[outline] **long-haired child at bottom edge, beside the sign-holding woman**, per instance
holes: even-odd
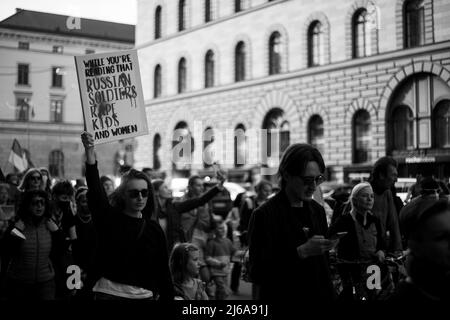
[[[175,300],[208,300],[205,284],[198,279],[199,253],[191,243],[179,243],[173,248],[169,264]]]

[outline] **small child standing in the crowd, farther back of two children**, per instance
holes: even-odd
[[[216,222],[215,237],[206,245],[205,261],[209,265],[211,278],[216,285],[216,300],[225,300],[229,295],[227,278],[230,274],[230,262],[237,251],[226,235],[225,223]]]

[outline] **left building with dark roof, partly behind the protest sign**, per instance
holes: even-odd
[[[83,117],[74,56],[131,49],[133,25],[17,9],[0,22],[0,164],[17,139],[37,167],[59,178],[83,175]],[[132,141],[100,145],[103,174],[113,175]],[[132,160],[128,157],[128,160]],[[132,163],[130,163],[132,164]]]

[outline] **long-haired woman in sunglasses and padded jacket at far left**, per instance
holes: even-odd
[[[7,298],[55,299],[55,272],[51,259],[61,252],[64,236],[51,219],[45,191],[32,190],[23,194],[17,221],[4,240]]]

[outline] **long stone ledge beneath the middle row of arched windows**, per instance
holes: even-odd
[[[292,80],[292,79],[302,78],[302,77],[306,77],[306,76],[314,76],[314,75],[323,74],[323,73],[327,73],[327,72],[345,70],[348,68],[364,67],[367,65],[388,62],[388,61],[392,61],[392,60],[396,60],[396,59],[404,59],[404,58],[408,58],[408,57],[411,57],[411,62],[412,62],[412,59],[418,55],[436,54],[439,52],[448,51],[449,49],[450,49],[450,41],[445,41],[445,42],[435,43],[432,45],[426,45],[426,46],[417,47],[417,48],[396,50],[396,51],[391,51],[391,52],[387,52],[387,53],[381,53],[381,54],[370,56],[370,57],[345,60],[345,61],[335,62],[335,63],[331,63],[331,64],[327,64],[327,65],[305,68],[305,69],[301,69],[301,70],[295,70],[295,71],[286,72],[286,73],[278,74],[278,75],[264,76],[263,78],[240,81],[240,82],[230,83],[230,84],[226,84],[226,85],[222,85],[222,86],[201,89],[201,90],[192,91],[192,92],[186,92],[183,94],[175,94],[175,95],[169,96],[169,97],[149,99],[149,100],[145,101],[145,104],[147,107],[158,106],[161,104],[166,104],[166,103],[170,103],[170,102],[174,102],[174,101],[180,101],[180,100],[184,100],[184,99],[197,98],[197,97],[207,96],[210,94],[223,93],[223,92],[232,91],[232,90],[247,89],[250,87],[266,85],[269,83],[276,83],[276,82],[281,82],[281,81],[286,81],[286,80]]]

